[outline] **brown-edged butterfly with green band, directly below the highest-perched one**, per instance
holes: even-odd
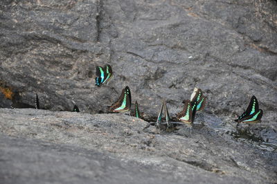
[[[119,99],[109,107],[109,109],[113,112],[125,112],[131,109],[131,91],[128,86],[122,90]]]

